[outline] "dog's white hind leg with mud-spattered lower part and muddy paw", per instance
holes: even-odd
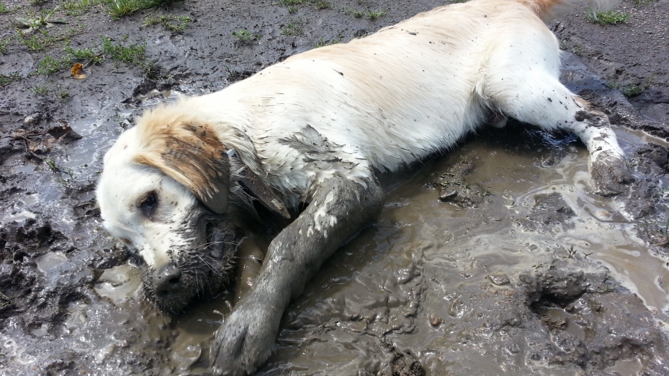
[[[503,113],[546,131],[572,132],[590,152],[592,185],[601,196],[615,196],[633,180],[605,114],[571,93],[548,74],[532,72],[502,77],[486,84],[486,92]],[[503,95],[502,95],[503,93]]]

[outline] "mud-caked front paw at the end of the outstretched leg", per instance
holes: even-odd
[[[215,376],[253,373],[272,354],[281,314],[267,307],[238,306],[216,331],[210,353]]]

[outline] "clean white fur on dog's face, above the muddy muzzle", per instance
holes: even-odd
[[[183,185],[156,169],[131,162],[138,148],[133,133],[125,132],[105,155],[98,205],[107,231],[137,249],[149,267],[160,269],[180,250],[199,245],[187,220],[201,209],[197,198]],[[151,191],[156,191],[160,204],[157,221],[142,216],[137,207]]]

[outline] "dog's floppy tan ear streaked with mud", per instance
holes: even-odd
[[[212,212],[228,210],[228,155],[208,125],[154,125],[141,136],[141,151],[134,162],[155,167],[180,182]]]

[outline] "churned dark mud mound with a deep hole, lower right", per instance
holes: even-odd
[[[636,295],[624,293],[606,274],[551,267],[521,274],[525,304],[551,333],[551,342],[530,352],[549,364],[573,363],[602,370],[621,359],[638,359],[645,375],[665,375],[659,354],[667,343]]]

